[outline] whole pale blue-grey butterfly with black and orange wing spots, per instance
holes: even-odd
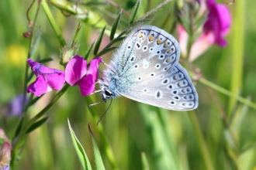
[[[195,109],[199,97],[179,56],[178,42],[168,32],[137,26],[103,70],[102,100],[124,96],[168,110]]]

